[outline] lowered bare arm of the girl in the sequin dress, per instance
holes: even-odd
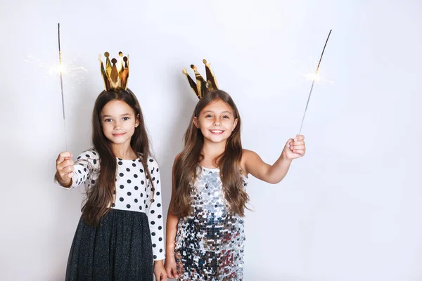
[[[177,162],[179,155],[174,159],[174,164]],[[173,214],[172,204],[174,200],[174,164],[172,169],[172,197],[170,199],[169,210],[167,212],[167,225],[166,225],[166,251],[167,257],[165,259],[165,268],[169,278],[177,278],[176,260],[174,259],[174,244],[177,235],[177,223],[179,223],[179,217]]]

